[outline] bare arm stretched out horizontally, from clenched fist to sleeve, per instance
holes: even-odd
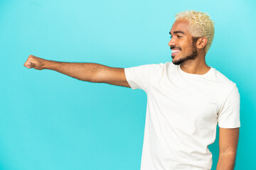
[[[51,69],[82,81],[130,87],[123,68],[107,67],[96,63],[55,62],[29,55],[24,63],[28,69]]]

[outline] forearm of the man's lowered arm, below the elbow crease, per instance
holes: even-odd
[[[216,170],[233,170],[235,168],[235,152],[220,154]]]

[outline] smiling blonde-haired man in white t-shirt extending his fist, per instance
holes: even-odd
[[[211,169],[208,145],[215,141],[217,123],[217,169],[234,169],[240,94],[235,83],[206,64],[206,53],[214,36],[213,24],[206,13],[177,13],[169,42],[173,60],[165,64],[123,69],[55,62],[30,55],[24,66],[146,91],[142,170]]]

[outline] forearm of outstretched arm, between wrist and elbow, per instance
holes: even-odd
[[[75,79],[91,82],[94,81],[97,71],[102,67],[106,66],[96,63],[55,62],[51,60],[43,61],[43,69],[51,69]]]

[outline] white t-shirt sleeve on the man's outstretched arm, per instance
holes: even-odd
[[[147,91],[151,86],[151,80],[156,72],[159,72],[159,64],[145,64],[137,67],[124,68],[127,82],[134,89]]]

